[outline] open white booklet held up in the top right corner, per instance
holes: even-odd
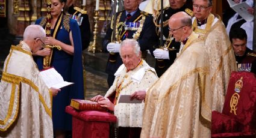
[[[228,0],[228,4],[234,11],[236,11],[237,14],[245,19],[246,22],[251,22],[254,19],[254,15],[247,11],[249,5],[246,4],[246,2],[236,4],[236,2],[234,2],[233,0]]]

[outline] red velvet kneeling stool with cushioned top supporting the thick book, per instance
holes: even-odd
[[[117,121],[116,116],[108,112],[78,111],[71,106],[67,106],[65,111],[72,115],[73,138],[107,138],[110,135],[110,122]]]

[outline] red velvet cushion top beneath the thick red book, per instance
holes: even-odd
[[[116,122],[116,116],[108,112],[100,112],[94,110],[77,111],[71,106],[66,106],[67,113],[73,117],[82,119],[84,121],[98,121],[98,122]]]

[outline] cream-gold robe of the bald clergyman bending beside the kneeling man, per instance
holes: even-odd
[[[210,137],[208,55],[194,32],[180,55],[146,93],[140,137]]]

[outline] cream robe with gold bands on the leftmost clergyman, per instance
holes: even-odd
[[[53,137],[51,101],[30,47],[11,46],[0,84],[0,137]]]

